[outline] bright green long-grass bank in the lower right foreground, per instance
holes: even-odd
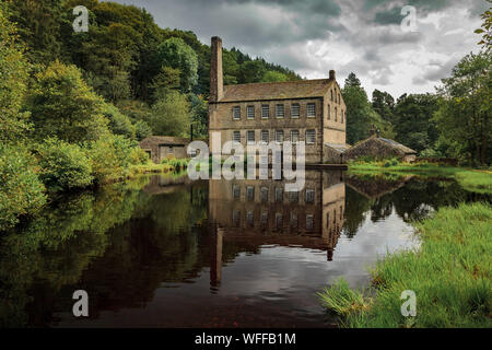
[[[319,293],[345,327],[492,327],[492,208],[442,208],[415,224],[422,244],[379,261],[372,287],[339,281]],[[417,316],[403,317],[401,292],[417,295]]]

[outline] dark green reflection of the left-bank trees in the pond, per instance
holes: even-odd
[[[3,236],[0,325],[43,324],[49,318],[55,295],[63,285],[77,283],[94,257],[104,254],[109,243],[105,232],[131,218],[143,185],[130,182],[69,196]]]

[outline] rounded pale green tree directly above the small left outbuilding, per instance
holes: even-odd
[[[154,135],[183,137],[189,132],[189,109],[186,95],[172,91],[152,106],[148,122]]]

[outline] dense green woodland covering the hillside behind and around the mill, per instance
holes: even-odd
[[[75,33],[73,8],[89,9]],[[348,142],[383,136],[422,155],[491,163],[490,11],[480,54],[465,57],[434,94],[397,100],[354,73],[342,94]],[[470,35],[473,35],[470,33]],[[478,36],[477,36],[478,37]],[[224,49],[224,83],[291,81],[295,72]],[[159,27],[144,9],[98,0],[0,3],[0,231],[35,213],[51,194],[130,175],[148,161],[150,135],[207,136],[210,46]],[[443,77],[444,78],[444,77]]]

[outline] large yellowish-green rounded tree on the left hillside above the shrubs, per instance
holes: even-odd
[[[107,132],[104,101],[83,81],[75,66],[59,61],[36,74],[28,96],[34,135],[67,142],[97,140]]]

